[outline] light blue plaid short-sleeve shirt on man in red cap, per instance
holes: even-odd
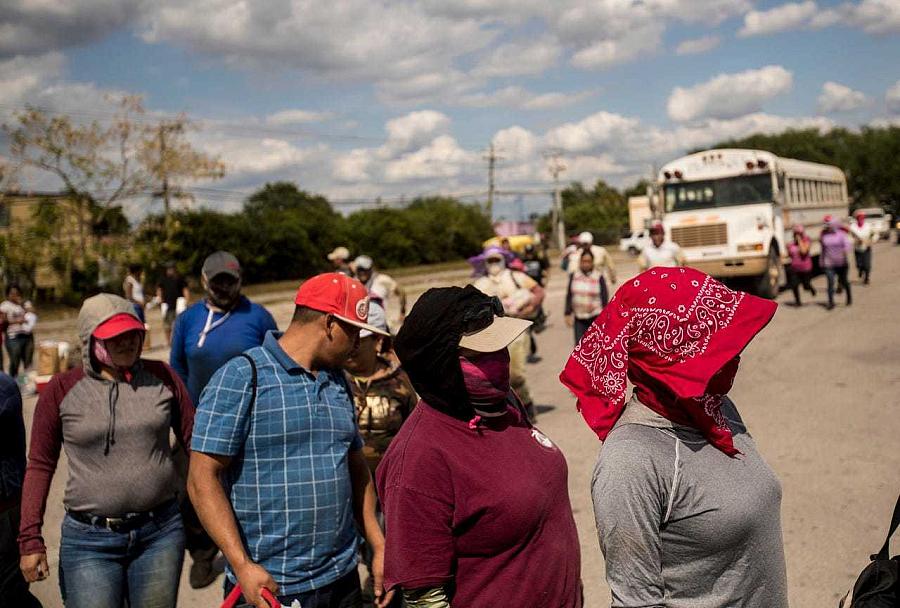
[[[340,370],[313,375],[269,332],[203,390],[191,449],[234,457],[226,488],[250,558],[279,593],[319,589],[356,567],[358,535],[348,455],[362,449],[350,389]],[[227,575],[235,581],[230,567]]]

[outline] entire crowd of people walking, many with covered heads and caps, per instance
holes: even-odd
[[[563,256],[575,347],[560,381],[603,441],[591,497],[613,606],[786,608],[780,482],[728,397],[776,304],[686,267],[661,225],[650,234],[614,295],[613,258],[589,232]],[[828,222],[829,308],[838,286],[852,302],[851,250],[869,282],[875,240],[862,219]],[[794,227],[797,305],[801,287],[815,295],[810,252]],[[36,317],[7,289],[0,605],[40,606],[29,584],[50,574],[44,516],[63,452],[67,608],[173,607],[186,551],[192,587],[215,582],[221,554],[223,597],[259,608],[584,605],[566,459],[527,382],[546,255],[488,247],[469,285],[408,311],[371,257],[338,247],[328,260],[284,331],[228,252],[206,258],[193,303],[174,265],[152,300],[129,267],[124,297],[82,304],[81,366],[42,390],[27,461],[14,378]],[[154,303],[168,363],[142,356]]]

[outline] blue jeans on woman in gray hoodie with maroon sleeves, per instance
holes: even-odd
[[[128,532],[63,520],[59,587],[66,608],[174,608],[183,562],[177,503]]]

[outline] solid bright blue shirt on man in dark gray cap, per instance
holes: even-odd
[[[207,322],[209,329],[201,338]],[[202,300],[175,320],[169,365],[181,376],[191,401],[197,403],[216,370],[245,350],[262,344],[266,332],[276,329],[269,311],[244,296],[228,313],[213,312]]]

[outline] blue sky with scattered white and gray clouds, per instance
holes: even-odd
[[[491,142],[498,188],[543,192],[551,150],[624,186],[722,138],[900,120],[897,0],[12,0],[0,23],[5,118],[124,92],[187,112],[222,209],[275,179],[344,209],[475,200]]]

